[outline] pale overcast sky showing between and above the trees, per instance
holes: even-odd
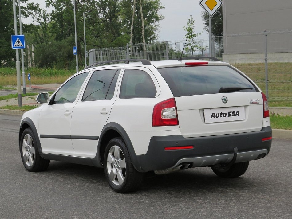
[[[201,12],[203,8],[199,5],[200,0],[160,0],[161,4],[165,6],[160,14],[164,19],[159,22],[160,33],[158,33],[159,41],[166,40],[183,40],[186,32],[183,27],[187,25],[187,20],[190,15],[195,20],[195,32],[203,31],[203,22]],[[30,2],[40,4],[41,8],[45,8],[45,0],[30,0]],[[50,12],[52,9],[47,9]],[[32,23],[31,18],[22,19],[24,23]],[[208,38],[209,35],[205,31],[200,38]]]

